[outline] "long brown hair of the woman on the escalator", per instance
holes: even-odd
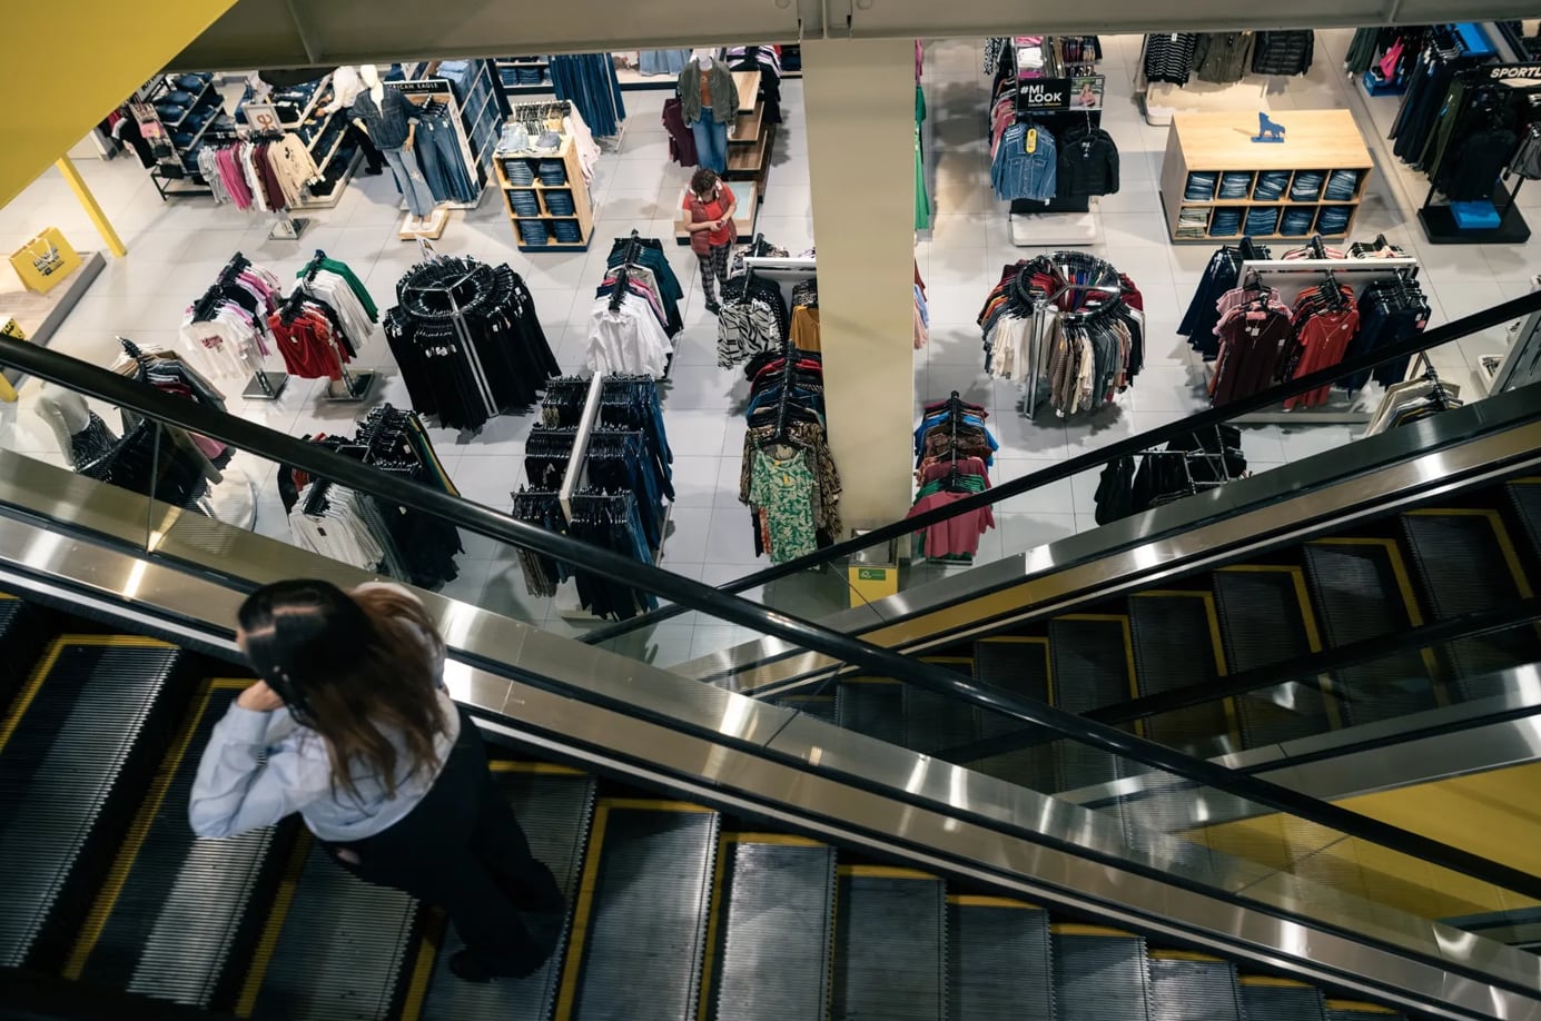
[[[358,798],[353,775],[362,767],[394,796],[404,779],[438,765],[444,639],[415,599],[297,579],[264,585],[237,616],[257,675],[325,741],[334,787]],[[402,735],[405,770],[387,733]]]

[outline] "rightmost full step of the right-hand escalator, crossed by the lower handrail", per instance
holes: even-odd
[[[1418,565],[1418,593],[1436,621],[1498,610],[1533,594],[1498,511],[1416,510],[1402,514],[1402,530]],[[1464,678],[1529,664],[1541,654],[1535,628],[1459,639],[1444,648],[1456,687]]]

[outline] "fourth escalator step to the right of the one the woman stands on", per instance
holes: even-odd
[[[997,896],[948,898],[948,1016],[1053,1021],[1048,912]]]

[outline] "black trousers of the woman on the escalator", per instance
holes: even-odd
[[[418,807],[374,836],[327,850],[361,879],[442,907],[492,972],[524,972],[547,956],[519,910],[559,907],[561,890],[492,782],[481,730],[464,710],[459,739]]]

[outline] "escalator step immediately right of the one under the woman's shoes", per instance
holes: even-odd
[[[697,1015],[718,825],[715,812],[681,802],[599,802],[558,1018]]]

